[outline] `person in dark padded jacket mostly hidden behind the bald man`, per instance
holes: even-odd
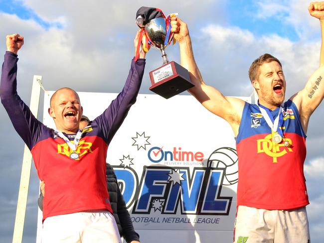
[[[82,115],[79,128],[83,130],[88,123],[90,122],[89,118]],[[134,230],[134,226],[131,220],[131,216],[127,210],[124,197],[118,186],[117,177],[113,167],[107,163],[106,167],[107,175],[107,189],[109,193],[109,200],[112,210],[114,212],[114,218],[118,227],[118,231],[121,237],[123,237],[127,243],[139,243],[140,236]],[[43,198],[45,195],[45,184],[42,181],[40,183],[41,193],[38,198],[38,206],[40,210],[43,210]]]

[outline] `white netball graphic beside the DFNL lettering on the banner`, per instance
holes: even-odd
[[[225,169],[223,185],[233,185],[238,181],[237,153],[234,148],[221,147],[212,152],[207,167]]]

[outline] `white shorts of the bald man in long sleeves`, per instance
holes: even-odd
[[[48,217],[43,223],[42,243],[121,243],[113,215],[94,210]]]

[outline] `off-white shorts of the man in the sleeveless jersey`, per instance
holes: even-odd
[[[306,207],[265,210],[238,206],[234,243],[310,243]]]

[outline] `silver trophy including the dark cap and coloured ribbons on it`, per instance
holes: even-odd
[[[141,34],[146,35],[148,43],[160,49],[163,58],[163,65],[150,72],[152,86],[150,90],[168,99],[172,96],[192,88],[188,70],[174,61],[169,62],[165,53],[165,48],[171,43],[173,33],[171,33],[170,18],[175,14],[164,16],[159,8],[140,7],[136,13],[136,23],[141,27]],[[141,37],[140,37],[141,39]],[[135,57],[137,60],[137,57]]]

